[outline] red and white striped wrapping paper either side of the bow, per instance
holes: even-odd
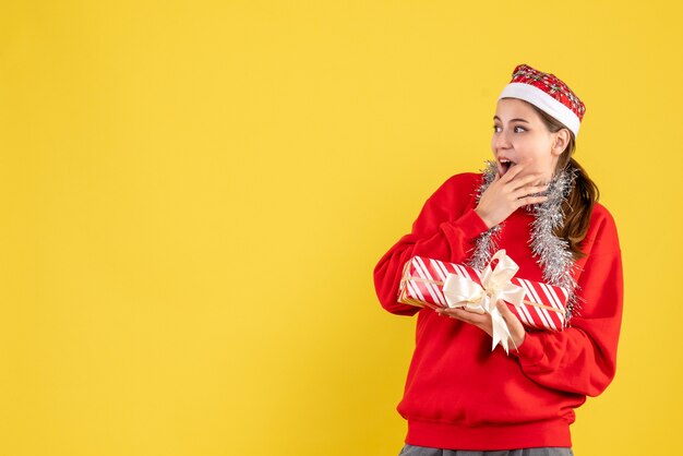
[[[404,266],[398,302],[431,309],[447,308],[442,288],[448,274],[469,278],[481,285],[481,273],[469,266],[414,256]],[[564,288],[517,277],[513,277],[511,283],[526,291],[524,304],[519,308],[507,303],[524,326],[555,332],[564,328],[568,298]]]

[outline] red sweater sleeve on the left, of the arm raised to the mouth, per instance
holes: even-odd
[[[374,267],[378,298],[384,309],[414,315],[420,308],[397,301],[403,267],[414,255],[463,262],[476,238],[488,229],[474,208],[476,175],[456,175],[424,203],[410,233],[396,242]]]

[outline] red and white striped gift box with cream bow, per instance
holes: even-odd
[[[498,313],[495,302],[503,299],[524,326],[562,331],[567,291],[514,277],[517,271],[517,265],[504,250],[498,251],[482,272],[463,264],[414,256],[404,267],[398,301],[431,309],[465,308],[492,313],[492,317],[500,320],[502,317],[494,314]],[[496,322],[493,323],[495,326]],[[507,326],[501,331],[507,332]]]

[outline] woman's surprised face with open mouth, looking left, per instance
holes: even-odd
[[[498,100],[491,151],[501,175],[513,166],[523,165],[524,169],[518,177],[539,173],[537,183],[549,182],[566,146],[566,143],[562,145],[565,136],[566,130],[550,132],[528,103],[517,98]]]

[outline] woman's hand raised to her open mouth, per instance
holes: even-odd
[[[515,165],[502,177],[499,171],[493,182],[481,195],[475,211],[489,228],[499,225],[522,206],[548,200],[548,196],[531,196],[548,188],[548,184],[534,184],[541,178],[541,175],[517,178],[523,169],[524,165]]]

